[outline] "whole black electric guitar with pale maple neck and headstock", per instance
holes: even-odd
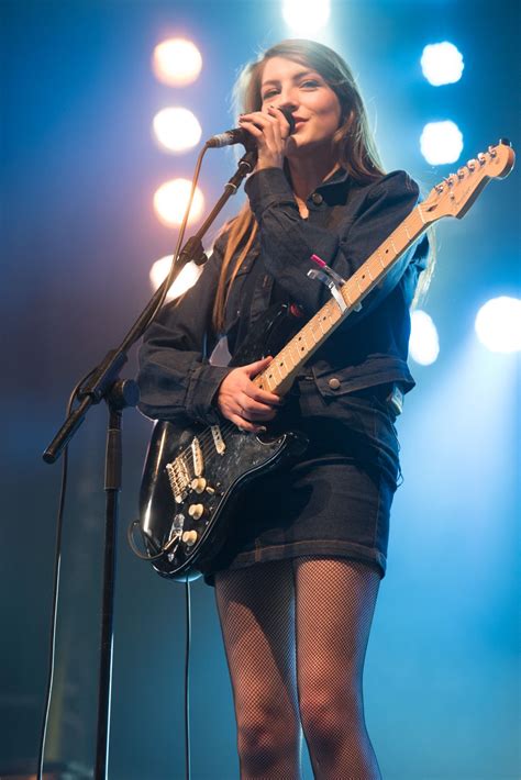
[[[513,163],[512,148],[500,142],[436,185],[347,281],[331,283],[333,297],[297,333],[293,325],[295,335],[253,381],[282,397],[310,356],[359,308],[429,225],[443,216],[461,219],[488,181],[508,176]],[[273,339],[279,339],[288,325],[291,316],[282,309],[268,319],[265,333],[234,356],[233,364],[273,355]],[[231,533],[233,502],[241,488],[301,454],[306,444],[298,433],[275,438],[244,433],[224,419],[218,425],[193,423],[182,430],[157,422],[146,456],[137,521],[156,571],[179,581],[198,577],[204,560],[221,549]]]

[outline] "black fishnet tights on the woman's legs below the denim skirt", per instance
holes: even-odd
[[[378,586],[341,558],[217,575],[242,780],[298,780],[302,729],[317,780],[380,778],[362,695]]]

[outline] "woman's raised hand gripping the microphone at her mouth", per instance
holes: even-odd
[[[279,109],[268,105],[265,111],[254,111],[239,118],[241,127],[247,130],[257,143],[256,170],[281,168],[289,138],[289,122]]]

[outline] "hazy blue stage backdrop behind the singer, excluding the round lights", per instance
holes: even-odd
[[[462,160],[501,135],[519,140],[517,3],[333,2],[330,38],[368,102],[388,169],[429,190],[418,138],[453,119]],[[47,662],[58,466],[41,453],[70,388],[123,336],[151,293],[153,260],[176,233],[157,222],[155,189],[191,177],[196,153],[168,156],[154,113],[185,105],[203,135],[231,126],[237,68],[288,35],[277,2],[1,0],[1,220],[3,349],[2,650],[0,773],[33,761]],[[167,35],[199,45],[192,87],[151,70]],[[465,71],[434,89],[419,58],[447,38]],[[233,169],[214,153],[207,203]],[[366,707],[384,776],[393,780],[513,780],[519,639],[519,365],[476,344],[478,307],[519,296],[519,177],[492,181],[463,223],[439,230],[425,309],[440,360],[419,380],[400,421],[406,476],[395,509],[389,573],[366,672]],[[236,199],[239,200],[239,198]],[[237,202],[229,212],[237,208]],[[126,375],[134,368],[134,356]],[[57,668],[48,759],[92,767],[104,499],[103,408],[71,446]],[[125,526],[136,513],[149,424],[125,414],[124,491],[115,605],[110,777],[182,777],[184,592],[135,559]],[[233,711],[212,591],[193,591],[193,778],[236,777]],[[309,771],[309,770],[308,770]],[[310,775],[308,775],[310,777]],[[308,777],[307,776],[307,777]]]

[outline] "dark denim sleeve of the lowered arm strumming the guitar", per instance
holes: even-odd
[[[212,400],[231,369],[211,366],[207,355],[215,344],[211,321],[221,263],[218,242],[196,285],[165,305],[145,333],[138,352],[138,408],[153,420],[219,421]]]

